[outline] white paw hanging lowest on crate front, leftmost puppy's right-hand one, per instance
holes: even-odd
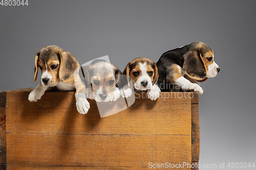
[[[90,104],[83,93],[76,93],[76,109],[81,114],[86,114],[90,109]]]

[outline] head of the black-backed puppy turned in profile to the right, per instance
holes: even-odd
[[[193,42],[184,54],[183,70],[188,77],[203,82],[217,76],[219,66],[214,62],[214,52],[203,42]]]

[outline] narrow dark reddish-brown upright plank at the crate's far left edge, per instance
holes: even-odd
[[[0,168],[6,168],[6,92],[0,92]]]

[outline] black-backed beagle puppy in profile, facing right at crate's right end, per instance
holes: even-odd
[[[197,82],[215,77],[220,71],[214,62],[214,52],[203,42],[193,42],[165,52],[156,65],[158,86],[162,91],[170,91],[174,85],[202,94],[203,89]]]

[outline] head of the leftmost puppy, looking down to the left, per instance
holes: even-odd
[[[71,53],[55,45],[46,46],[36,53],[34,82],[40,68],[43,86],[54,87],[59,81],[70,83],[74,81],[74,71],[77,67],[79,63]]]

